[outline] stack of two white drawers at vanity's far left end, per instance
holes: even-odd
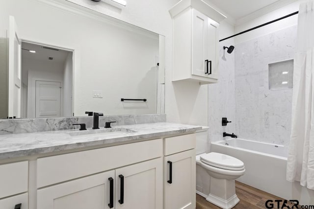
[[[28,209],[27,190],[27,161],[0,165],[0,209]]]

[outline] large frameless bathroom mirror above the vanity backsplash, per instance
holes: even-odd
[[[9,16],[21,40],[18,93],[8,83]],[[0,118],[86,111],[164,113],[164,36],[68,1],[0,1]]]

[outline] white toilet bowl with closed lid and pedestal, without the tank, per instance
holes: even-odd
[[[210,188],[206,200],[223,209],[233,208],[240,201],[235,194],[235,179],[244,174],[244,163],[216,152],[197,155],[196,163],[209,174]]]

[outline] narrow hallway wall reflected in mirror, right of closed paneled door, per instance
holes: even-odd
[[[63,116],[73,114],[73,53],[69,52],[63,70]]]

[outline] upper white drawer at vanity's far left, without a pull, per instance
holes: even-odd
[[[26,192],[27,186],[28,161],[0,165],[0,187],[5,188],[0,189],[0,198]]]

